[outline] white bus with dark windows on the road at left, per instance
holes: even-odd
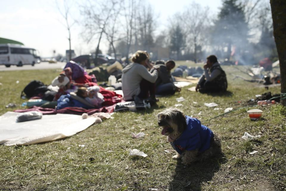
[[[23,66],[40,63],[38,51],[18,44],[0,44],[0,65],[10,67],[11,65]]]

